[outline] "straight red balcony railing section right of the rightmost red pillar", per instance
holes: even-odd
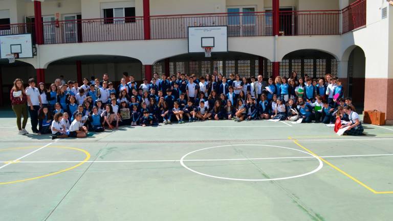
[[[339,30],[340,11],[281,11],[282,35],[336,35]]]

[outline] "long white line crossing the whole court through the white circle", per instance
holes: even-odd
[[[42,147],[41,147],[42,148]],[[41,149],[40,148],[40,149]],[[393,154],[363,154],[363,155],[340,155],[322,156],[321,158],[345,158],[345,157],[383,157],[393,156]],[[239,159],[209,159],[209,160],[183,160],[183,161],[242,161],[242,160],[276,160],[276,159],[305,159],[315,157],[276,157],[276,158],[239,158]],[[8,161],[0,162],[6,163]],[[129,161],[21,161],[18,163],[154,163],[154,162],[180,162],[180,160],[129,160]]]

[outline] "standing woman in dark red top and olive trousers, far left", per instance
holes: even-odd
[[[27,96],[25,93],[25,87],[23,86],[23,81],[19,78],[14,80],[14,86],[10,92],[10,99],[12,110],[16,115],[16,125],[18,126],[19,135],[29,134],[25,129],[28,114],[27,114]],[[23,116],[23,123],[20,123],[21,118]]]

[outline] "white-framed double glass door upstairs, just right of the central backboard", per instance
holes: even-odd
[[[229,36],[253,36],[255,34],[255,6],[228,7]]]

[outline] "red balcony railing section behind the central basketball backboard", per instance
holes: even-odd
[[[270,12],[150,16],[151,39],[187,38],[191,26],[228,26],[229,37],[272,35]]]

